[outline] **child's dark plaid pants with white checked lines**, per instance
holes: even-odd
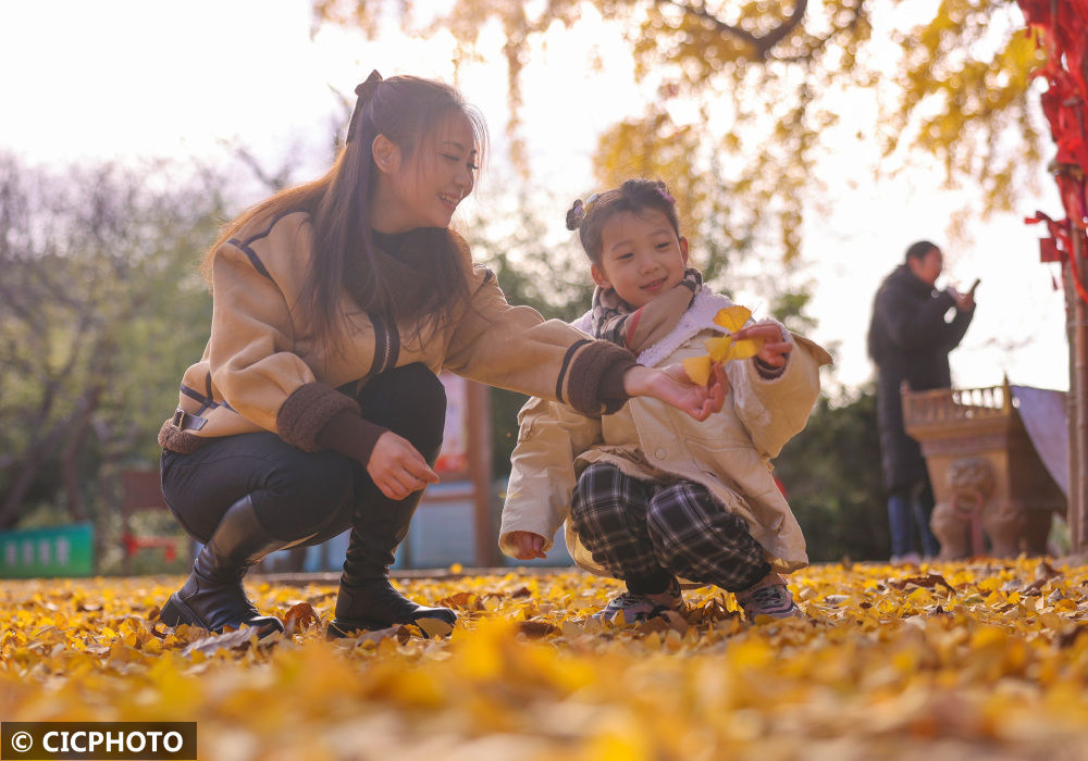
[[[770,573],[744,520],[694,482],[655,484],[594,463],[579,476],[570,523],[593,560],[632,591],[658,591],[634,587],[673,575],[739,591]]]

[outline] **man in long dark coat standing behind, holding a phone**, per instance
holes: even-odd
[[[877,425],[888,491],[891,561],[917,563],[940,547],[929,528],[934,490],[918,442],[903,429],[900,387],[912,391],[951,388],[949,352],[960,345],[975,314],[975,286],[966,294],[936,290],[944,265],[941,250],[928,240],[912,244],[902,264],[877,290],[869,323],[869,357],[877,365]],[[945,319],[955,308],[951,322]]]

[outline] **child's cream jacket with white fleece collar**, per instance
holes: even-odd
[[[706,353],[705,339],[720,335],[713,320],[730,305],[702,289],[677,327],[639,355],[656,366]],[[573,323],[588,327],[583,317]],[[796,519],[771,476],[771,458],[805,427],[819,395],[819,367],[831,358],[816,344],[789,334],[795,348],[786,371],[764,378],[754,360],[729,362],[730,390],[721,412],[700,423],[654,399],[632,399],[615,414],[592,417],[569,407],[532,399],[518,415],[521,429],[503,510],[499,547],[512,554],[510,532],[552,537],[569,515],[577,475],[606,462],[642,479],[683,479],[706,486],[728,510],[742,516],[768,562],[790,572],[808,562]],[[574,561],[607,575],[567,522],[567,548]]]

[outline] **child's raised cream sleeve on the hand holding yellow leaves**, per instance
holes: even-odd
[[[737,415],[767,458],[778,457],[786,442],[804,431],[819,398],[819,369],[831,364],[823,347],[784,327],[782,332],[794,346],[781,375],[763,377],[754,360],[726,365]]]

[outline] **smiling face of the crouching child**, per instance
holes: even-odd
[[[613,214],[601,228],[601,263],[593,282],[614,288],[632,309],[680,285],[688,266],[688,239],[678,238],[664,212]]]

